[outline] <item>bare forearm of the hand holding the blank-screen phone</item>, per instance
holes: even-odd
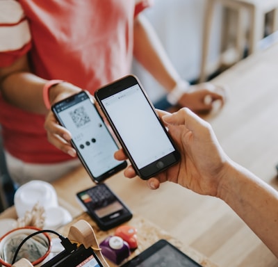
[[[278,193],[268,184],[231,163],[224,176],[219,197],[261,238],[278,257]]]

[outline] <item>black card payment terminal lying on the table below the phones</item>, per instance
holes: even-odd
[[[76,194],[81,206],[106,231],[132,218],[128,207],[106,184],[98,184]]]

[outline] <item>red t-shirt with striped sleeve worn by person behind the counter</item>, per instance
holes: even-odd
[[[129,74],[133,19],[147,5],[135,0],[1,0],[0,67],[28,51],[38,76],[69,81],[93,93]],[[70,159],[48,142],[44,115],[10,106],[1,95],[0,124],[6,150],[18,159]]]

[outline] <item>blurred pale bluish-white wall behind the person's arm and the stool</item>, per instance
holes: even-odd
[[[145,10],[174,67],[187,81],[196,81],[199,77],[205,6],[206,0],[156,0],[154,6]],[[220,50],[220,15],[219,8],[213,18],[209,52],[212,61]],[[153,102],[165,95],[165,90],[136,61],[133,73]]]

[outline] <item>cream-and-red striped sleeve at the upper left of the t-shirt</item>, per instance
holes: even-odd
[[[12,64],[31,48],[31,33],[22,6],[0,0],[0,67]]]

